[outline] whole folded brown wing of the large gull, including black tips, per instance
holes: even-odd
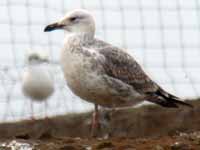
[[[164,107],[178,107],[177,104],[192,107],[152,81],[134,58],[125,51],[111,45],[98,51],[105,58],[102,62],[105,73],[131,85],[138,93],[145,95],[146,100]]]

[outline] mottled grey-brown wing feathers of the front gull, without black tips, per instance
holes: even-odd
[[[104,47],[99,53],[105,57],[102,62],[107,75],[117,78],[141,94],[155,92],[159,87],[128,53],[117,47]]]

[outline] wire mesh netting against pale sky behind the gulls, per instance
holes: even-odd
[[[52,23],[74,8],[85,8],[96,18],[96,36],[127,48],[163,88],[189,98],[200,94],[200,2],[198,0],[1,0],[0,1],[0,120],[1,122],[84,111],[66,86],[59,65],[64,34],[44,34]],[[55,93],[35,103],[21,91],[25,51],[50,53]],[[30,111],[34,105],[34,113]],[[47,114],[45,113],[47,111]]]

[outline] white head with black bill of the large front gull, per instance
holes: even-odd
[[[95,21],[90,12],[76,9],[68,12],[61,20],[45,27],[45,32],[63,29],[68,33],[92,34],[95,33]]]

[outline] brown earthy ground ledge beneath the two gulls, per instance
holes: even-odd
[[[91,112],[4,123],[0,150],[16,142],[35,150],[200,150],[200,101],[190,103],[193,109],[150,105],[116,111],[97,138],[90,137]]]

